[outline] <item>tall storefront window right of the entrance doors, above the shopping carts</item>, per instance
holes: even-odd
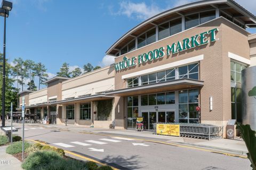
[[[179,122],[198,123],[198,89],[179,91]]]

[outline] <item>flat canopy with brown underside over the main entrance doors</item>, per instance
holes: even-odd
[[[174,91],[174,90],[198,88],[203,86],[204,86],[204,82],[201,80],[177,79],[177,80],[172,80],[167,82],[148,84],[145,86],[114,90],[114,91],[106,92],[106,95],[121,96],[121,97],[134,96],[134,95],[143,95],[143,94],[157,93],[157,92],[163,92],[163,91]]]

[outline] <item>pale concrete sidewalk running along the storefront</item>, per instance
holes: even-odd
[[[14,126],[21,126],[21,124],[14,123]],[[26,124],[31,127],[43,127],[55,130],[74,131],[80,133],[94,133],[103,135],[115,135],[122,137],[137,138],[143,140],[150,140],[152,142],[167,142],[175,145],[193,146],[202,149],[210,149],[227,154],[235,154],[246,156],[247,148],[244,141],[230,140],[230,139],[215,139],[203,140],[183,137],[172,137],[166,135],[156,135],[148,131],[134,131],[134,130],[116,130],[116,129],[100,129],[90,128],[89,126],[76,126],[76,125],[55,125],[55,124]]]

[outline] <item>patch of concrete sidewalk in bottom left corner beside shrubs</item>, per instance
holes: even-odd
[[[12,155],[6,154],[7,146],[0,147],[0,169],[17,170],[21,168],[21,162]]]

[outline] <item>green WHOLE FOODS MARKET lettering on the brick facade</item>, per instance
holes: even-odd
[[[187,49],[195,48],[201,45],[205,45],[210,42],[216,41],[216,32],[218,28],[214,28],[209,31],[202,32],[198,35],[195,35],[190,38],[185,38],[182,41],[178,41],[177,43],[173,43],[172,45],[167,45],[166,47],[160,47],[158,49],[151,50],[148,53],[143,53],[138,55],[137,57],[127,58],[124,56],[123,61],[119,63],[115,63],[115,70],[123,70],[128,67],[135,66],[137,64],[147,63],[149,61],[157,60],[165,56],[165,49],[166,55],[171,55],[175,53],[182,52]]]

